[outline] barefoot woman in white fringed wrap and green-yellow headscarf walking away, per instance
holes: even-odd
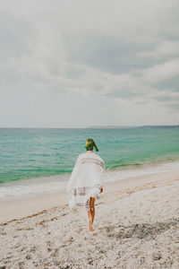
[[[103,192],[102,178],[105,172],[105,163],[94,153],[98,147],[92,138],[86,141],[87,152],[81,153],[72,169],[68,183],[69,206],[73,211],[78,205],[84,205],[89,217],[89,230],[93,231],[92,224],[95,217],[95,199],[100,198]]]

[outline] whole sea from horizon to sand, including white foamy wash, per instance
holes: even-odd
[[[179,170],[179,129],[0,129],[0,201],[65,189],[92,137],[105,181]]]

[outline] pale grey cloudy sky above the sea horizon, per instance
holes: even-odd
[[[2,0],[0,127],[179,125],[178,0]]]

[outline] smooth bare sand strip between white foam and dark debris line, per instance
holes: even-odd
[[[104,198],[105,196],[108,197],[114,194],[114,190],[117,194],[132,193],[146,187],[149,188],[152,185],[161,185],[162,181],[166,181],[167,178],[179,178],[179,171],[142,175],[140,177],[130,177],[106,182],[104,183],[104,192],[101,197]],[[30,217],[30,215],[43,212],[44,210],[52,210],[59,206],[68,207],[68,196],[65,190],[53,194],[41,194],[35,197],[4,201],[0,203],[0,223]]]

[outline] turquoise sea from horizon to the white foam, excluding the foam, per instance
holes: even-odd
[[[0,129],[0,183],[72,172],[92,137],[107,169],[179,159],[179,129]]]

